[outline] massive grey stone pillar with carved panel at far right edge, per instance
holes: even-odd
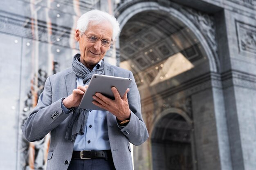
[[[225,10],[231,68],[222,79],[234,170],[256,167],[256,7],[249,5]]]

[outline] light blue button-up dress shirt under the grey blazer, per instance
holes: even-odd
[[[101,61],[94,66],[96,70],[101,65]],[[76,86],[85,86],[83,79],[76,76]],[[71,110],[61,104],[64,113],[70,113]],[[77,135],[73,150],[109,150],[110,143],[108,139],[107,112],[102,110],[91,110],[88,115],[87,124],[85,124],[84,135]]]

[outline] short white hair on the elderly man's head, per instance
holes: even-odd
[[[117,19],[109,13],[94,9],[84,13],[78,20],[76,29],[85,32],[88,29],[88,24],[97,25],[103,22],[109,22],[112,25],[112,40],[114,40],[120,33],[119,23]]]

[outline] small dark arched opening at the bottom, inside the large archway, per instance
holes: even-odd
[[[196,169],[191,122],[176,108],[166,109],[157,117],[150,138],[153,170]]]

